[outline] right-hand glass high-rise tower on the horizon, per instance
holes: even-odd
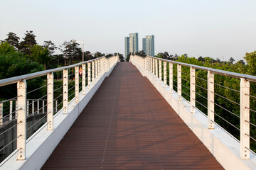
[[[154,56],[154,35],[146,35],[142,39],[142,47],[146,55]]]

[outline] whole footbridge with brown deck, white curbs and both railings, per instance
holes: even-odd
[[[207,115],[196,107],[196,69],[208,73]],[[182,74],[190,77],[189,99]],[[241,81],[240,140],[215,123],[214,74]],[[27,118],[35,113],[28,113],[26,84],[45,75],[46,106],[38,104],[38,111],[46,107],[46,123],[27,137]],[[16,142],[16,148],[0,169],[256,169],[250,81],[256,77],[149,56],[130,62],[100,57],[0,80],[1,86],[17,84],[16,111],[4,115],[1,103],[1,125],[4,118],[16,121],[16,135],[4,147]]]

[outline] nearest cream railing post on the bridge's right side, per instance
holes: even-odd
[[[240,158],[250,159],[250,81],[240,80]]]

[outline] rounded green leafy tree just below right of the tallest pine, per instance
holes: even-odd
[[[31,47],[31,59],[34,62],[39,62],[43,64],[44,69],[46,70],[46,64],[50,62],[50,52],[47,47],[42,47],[41,45],[33,45]]]

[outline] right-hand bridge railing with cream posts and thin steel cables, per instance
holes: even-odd
[[[139,60],[137,60],[137,58],[139,58]],[[139,65],[139,67],[142,67],[141,60],[144,60],[144,72],[147,72],[146,75],[159,77],[160,83],[164,82],[167,86],[173,87],[173,89],[169,88],[170,91],[176,91],[180,97],[186,96],[186,98],[189,98],[188,103],[191,104],[191,113],[193,113],[193,107],[197,105],[197,109],[201,112],[206,111],[205,114],[208,118],[208,123],[212,121],[216,125],[219,124],[218,126],[222,128],[226,128],[226,123],[226,125],[230,125],[230,127],[235,128],[235,130],[239,130],[241,133],[240,135],[233,133],[233,131],[229,129],[226,129],[225,132],[229,132],[229,135],[231,136],[235,135],[233,138],[236,140],[241,140],[240,137],[242,137],[243,142],[241,142],[240,145],[251,151],[250,143],[248,141],[250,139],[255,139],[252,135],[256,136],[256,130],[252,131],[252,127],[256,128],[256,119],[252,119],[252,122],[250,122],[247,113],[251,112],[251,115],[256,113],[256,105],[254,103],[252,103],[251,106],[249,105],[250,98],[255,100],[256,96],[250,94],[249,91],[253,91],[254,89],[250,89],[250,86],[247,84],[250,84],[250,81],[256,82],[256,77],[150,56],[146,56],[145,58],[131,56],[130,60],[136,66]],[[188,73],[188,67],[190,67],[192,71],[194,70],[194,72],[191,73],[192,71],[190,71]],[[207,75],[205,74],[206,72]],[[214,74],[217,76],[214,77]],[[207,77],[207,79],[204,77]],[[232,84],[228,84],[225,81],[227,77],[233,82]],[[191,79],[193,81],[191,81]],[[237,90],[238,86],[240,86],[240,91]],[[191,90],[191,88],[194,89]],[[228,91],[226,91],[226,89]],[[238,94],[233,94],[232,92]],[[256,94],[256,91],[254,91],[254,94]],[[178,100],[181,99],[178,98]],[[191,103],[191,101],[196,104],[193,106],[193,102]],[[211,108],[213,109],[211,110]],[[242,113],[240,113],[240,108],[242,109]],[[243,112],[246,112],[246,114]],[[216,117],[216,120],[214,120],[214,117]],[[254,116],[253,118],[256,117]],[[245,123],[249,123],[250,126],[252,126],[251,129],[250,127],[248,128]],[[214,128],[214,126],[210,127]],[[242,134],[244,131],[240,129],[249,130],[253,133],[252,135],[246,133],[248,136],[246,138],[245,134]],[[255,142],[255,140],[253,140],[253,142]],[[256,151],[256,145],[252,150]],[[241,152],[242,159],[249,158],[246,156],[247,154],[245,154],[245,150],[242,150]]]

